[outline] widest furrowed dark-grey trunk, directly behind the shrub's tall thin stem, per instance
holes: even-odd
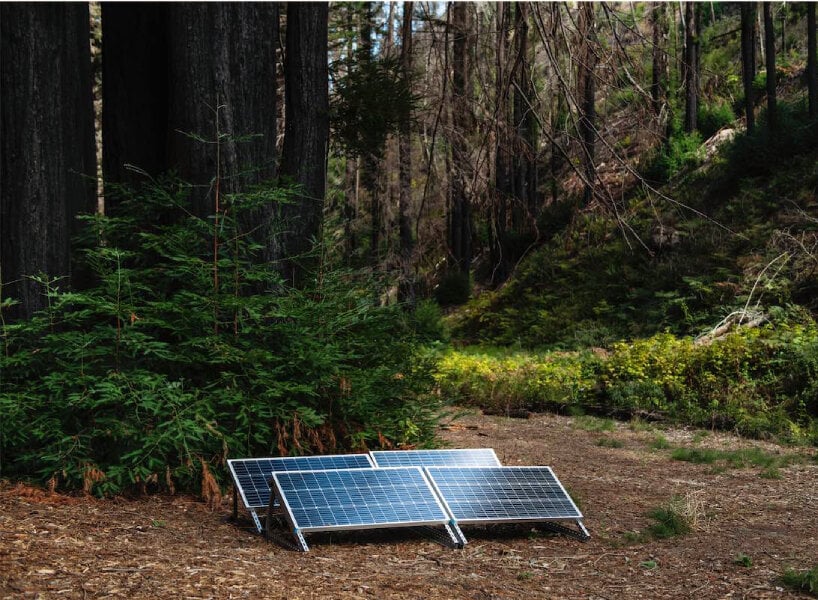
[[[169,6],[169,165],[200,217],[222,210],[217,193],[275,176],[277,23],[275,3]]]

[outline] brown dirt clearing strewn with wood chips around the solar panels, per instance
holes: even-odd
[[[5,483],[0,598],[802,597],[778,577],[818,565],[814,449],[662,430],[673,446],[806,457],[764,478],[757,467],[673,460],[643,427],[587,429],[555,415],[472,414],[442,431],[452,447],[493,447],[504,464],[553,467],[585,514],[585,543],[529,526],[464,527],[469,543],[457,550],[378,530],[311,535],[299,553],[255,534],[246,515],[231,522],[227,500],[211,511],[191,497],[96,500]],[[640,541],[647,513],[674,496],[693,532]]]

